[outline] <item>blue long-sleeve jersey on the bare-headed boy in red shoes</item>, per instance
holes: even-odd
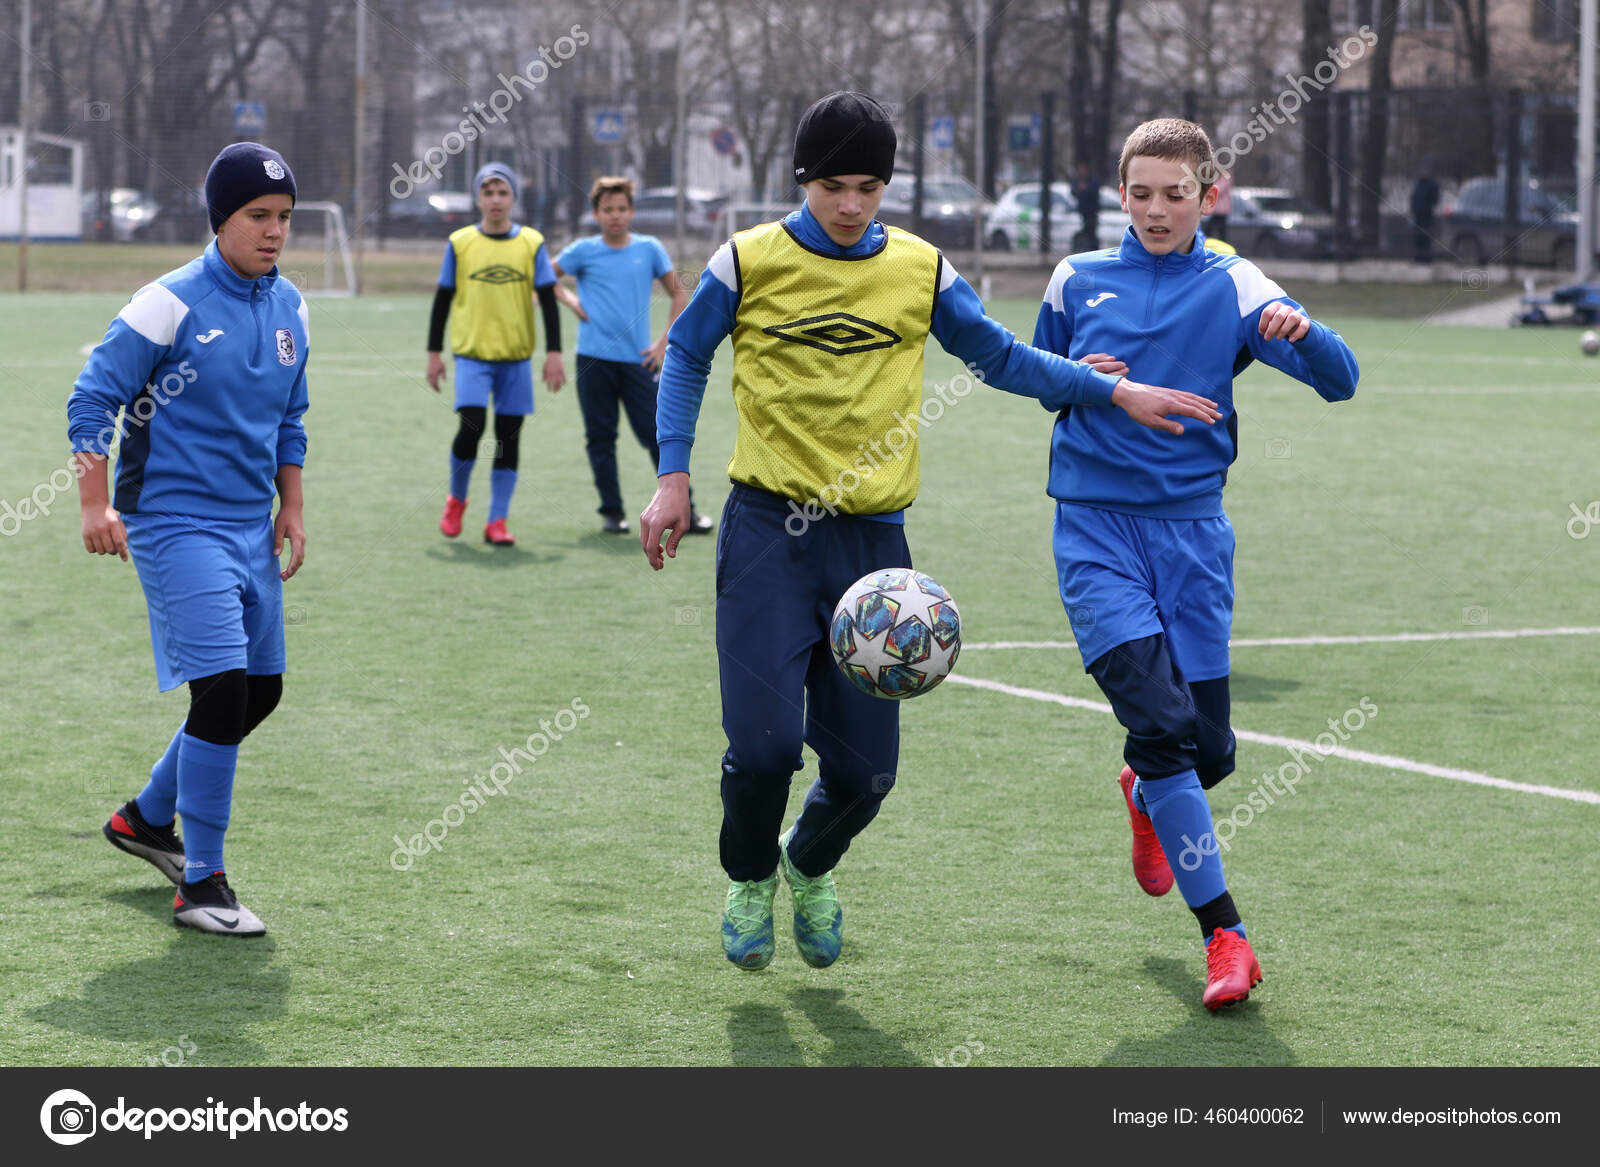
[[[1160,519],[1214,519],[1238,456],[1234,376],[1262,360],[1325,400],[1355,394],[1360,370],[1344,339],[1315,320],[1304,339],[1261,338],[1261,311],[1301,306],[1248,259],[1195,245],[1150,255],[1133,227],[1122,245],[1062,259],[1045,288],[1034,344],[1067,357],[1109,354],[1144,384],[1214,400],[1221,421],[1176,418],[1184,432],[1147,429],[1123,410],[1069,408],[1051,437],[1050,495]]]

